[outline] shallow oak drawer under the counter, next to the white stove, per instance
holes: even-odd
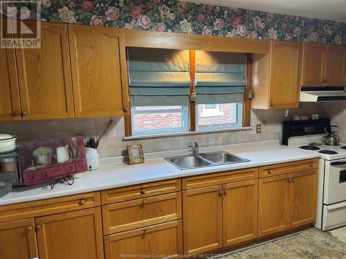
[[[260,178],[283,175],[285,173],[295,173],[309,169],[318,169],[318,159],[300,160],[284,164],[273,164],[271,166],[261,166]]]

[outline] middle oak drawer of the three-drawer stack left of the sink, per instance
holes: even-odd
[[[118,202],[102,207],[103,233],[117,233],[181,218],[181,193]]]

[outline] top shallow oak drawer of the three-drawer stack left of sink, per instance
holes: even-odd
[[[180,190],[180,179],[173,179],[102,191],[101,200],[102,204],[110,204],[114,202],[124,202],[126,200],[140,199],[159,194],[174,193]]]

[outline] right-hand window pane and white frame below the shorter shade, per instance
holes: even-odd
[[[242,104],[198,104],[197,131],[238,128],[242,126]]]

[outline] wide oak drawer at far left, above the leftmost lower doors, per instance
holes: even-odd
[[[23,202],[0,207],[0,222],[100,206],[100,193],[84,193],[61,198]]]

